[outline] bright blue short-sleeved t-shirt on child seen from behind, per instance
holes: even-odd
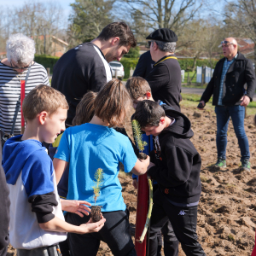
[[[94,205],[94,176],[102,168],[104,179],[96,206],[102,206],[102,212],[125,211],[119,162],[125,172],[131,172],[137,161],[128,137],[107,126],[73,126],[64,131],[55,158],[69,162],[67,199]]]

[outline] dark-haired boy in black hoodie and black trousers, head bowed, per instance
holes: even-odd
[[[169,219],[186,255],[206,255],[197,241],[197,205],[201,195],[201,157],[190,138],[189,119],[157,102],[138,102],[133,119],[154,136],[148,175],[157,181],[149,231],[149,253],[157,253],[157,232]]]

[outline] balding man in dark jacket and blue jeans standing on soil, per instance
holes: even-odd
[[[214,166],[226,167],[227,131],[231,117],[241,150],[241,170],[250,172],[250,151],[244,130],[244,115],[245,107],[253,101],[256,87],[253,63],[237,52],[236,39],[225,38],[221,44],[224,58],[216,64],[212,79],[201,96],[203,107],[212,95],[212,105],[216,106],[218,160]]]

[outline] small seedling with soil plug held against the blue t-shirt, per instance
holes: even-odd
[[[101,214],[101,208],[102,206],[96,206],[96,200],[100,196],[100,191],[102,188],[102,181],[103,181],[103,170],[102,168],[98,168],[95,172],[94,175],[95,181],[95,186],[92,187],[93,192],[94,192],[94,206],[91,207],[91,219],[92,222],[97,222],[100,221],[102,218]]]

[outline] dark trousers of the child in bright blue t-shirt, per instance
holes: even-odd
[[[106,222],[97,233],[68,233],[68,244],[72,256],[96,256],[100,242],[108,244],[114,256],[137,256],[130,235],[129,211],[102,212]],[[84,218],[74,213],[67,213],[67,222],[80,225],[88,222],[90,216]]]

